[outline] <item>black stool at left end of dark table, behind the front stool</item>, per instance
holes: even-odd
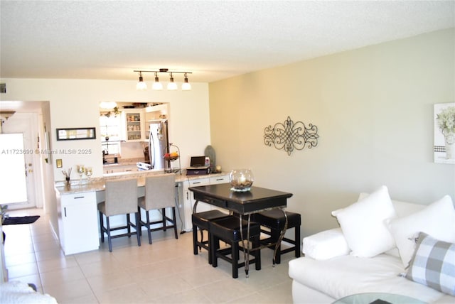
[[[229,215],[221,212],[220,210],[210,210],[205,212],[197,212],[191,215],[191,222],[193,222],[193,253],[198,254],[199,251],[203,248],[208,251],[208,264],[212,264],[212,259],[210,255],[210,248],[208,246],[209,239],[204,241],[203,230],[208,232],[208,222],[215,219],[222,219],[224,217],[229,217]],[[200,241],[198,239],[198,229],[200,230]],[[210,232],[208,232],[208,237],[210,238]]]

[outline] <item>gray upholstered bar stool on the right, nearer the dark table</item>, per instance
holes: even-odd
[[[139,230],[147,227],[149,244],[151,244],[151,232],[173,228],[174,235],[178,239],[176,221],[176,176],[173,174],[151,175],[145,179],[145,195],[137,199],[139,212]],[[166,216],[166,207],[172,208],[172,218]],[[146,222],[141,219],[141,208],[146,212]],[[150,210],[160,210],[161,219],[150,222]],[[171,224],[169,225],[168,222]],[[159,224],[159,227],[152,227]]]

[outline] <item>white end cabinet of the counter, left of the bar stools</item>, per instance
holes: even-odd
[[[95,191],[60,195],[57,192],[58,235],[65,255],[97,250],[97,198]]]

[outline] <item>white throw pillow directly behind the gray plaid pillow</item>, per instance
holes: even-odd
[[[415,239],[419,232],[431,235],[435,239],[455,242],[455,210],[449,195],[433,202],[424,209],[390,220],[392,232],[404,266],[408,266],[416,247]]]

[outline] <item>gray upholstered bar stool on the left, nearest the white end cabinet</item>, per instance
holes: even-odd
[[[139,234],[139,215],[137,213],[137,180],[108,180],[106,182],[105,201],[97,205],[100,212],[100,229],[101,241],[105,241],[105,233],[109,243],[109,251],[112,252],[111,239],[117,237],[131,237],[137,235],[137,246],[141,246],[141,238]],[[134,213],[136,222],[132,223],[129,215]],[[106,217],[106,227],[103,220],[103,215]],[[109,217],[112,215],[127,215],[127,224],[122,227],[111,228]],[[131,227],[136,229],[136,232],[131,231]],[[127,229],[124,234],[111,235],[114,230]]]

